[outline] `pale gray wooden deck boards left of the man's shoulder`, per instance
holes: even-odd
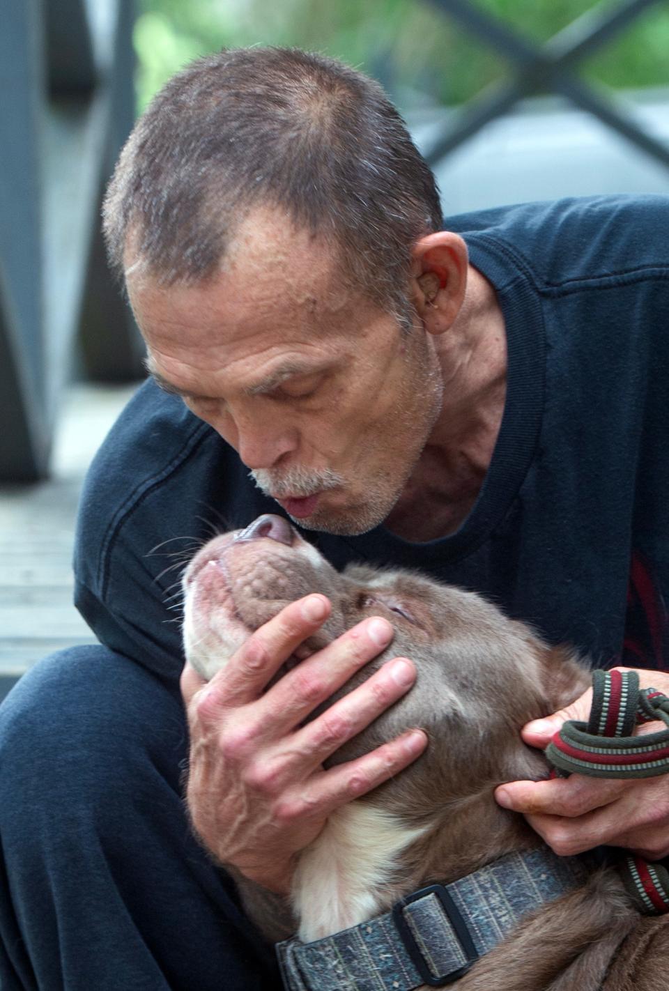
[[[93,640],[71,604],[76,506],[86,468],[132,391],[72,385],[59,419],[53,477],[0,486],[0,699],[41,657]]]

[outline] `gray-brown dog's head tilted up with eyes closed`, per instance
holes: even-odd
[[[307,650],[366,616],[386,616],[395,631],[390,646],[338,695],[398,655],[415,662],[416,685],[331,760],[351,759],[422,726],[431,745],[417,764],[435,764],[428,773],[448,778],[442,795],[540,775],[539,758],[519,741],[520,726],[561,708],[587,684],[567,651],[547,647],[481,596],[405,571],[350,566],[340,574],[279,516],[261,516],[209,541],[190,562],[183,587],[186,656],[205,678],[253,630],[310,592],[327,596],[332,613]]]

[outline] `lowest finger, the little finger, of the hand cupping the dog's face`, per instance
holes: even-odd
[[[339,764],[312,778],[313,784],[298,795],[286,796],[277,812],[284,820],[304,816],[329,816],[352,799],[367,795],[413,763],[427,746],[422,729],[409,729],[358,760]]]

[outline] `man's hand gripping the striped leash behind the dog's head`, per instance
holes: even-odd
[[[629,668],[618,668],[629,671]],[[651,686],[669,696],[669,675],[637,670],[641,688]],[[567,719],[588,721],[592,689],[545,719],[528,722],[522,738],[544,749]],[[648,722],[637,733],[656,732],[662,722]],[[496,791],[504,809],[523,813],[555,853],[569,856],[600,844],[624,846],[647,860],[669,855],[669,776],[629,781],[572,774],[551,781],[512,781]]]

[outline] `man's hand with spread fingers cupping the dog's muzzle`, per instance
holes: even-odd
[[[181,676],[192,824],[221,862],[281,894],[294,855],[315,839],[329,814],[406,767],[427,743],[424,732],[410,730],[357,760],[322,767],[411,687],[415,669],[400,658],[301,725],[388,646],[392,627],[381,617],[359,623],[265,691],[329,611],[324,596],[307,596],[258,629],[210,682],[188,665]]]

